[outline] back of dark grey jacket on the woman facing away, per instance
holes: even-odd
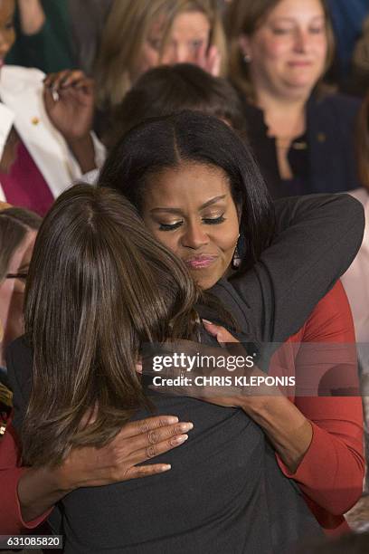
[[[9,350],[15,410],[27,405],[32,350]],[[80,488],[60,502],[66,554],[284,553],[322,535],[298,486],[279,470],[260,427],[241,410],[152,394],[157,414],[194,422],[190,440],[156,457],[170,472]],[[141,419],[149,414],[137,413]]]

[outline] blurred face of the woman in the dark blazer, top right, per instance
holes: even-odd
[[[325,70],[326,18],[320,0],[280,0],[250,36],[240,39],[251,58],[256,89],[279,98],[309,95]]]

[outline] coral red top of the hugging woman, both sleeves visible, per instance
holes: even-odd
[[[301,342],[304,344],[300,345]],[[347,345],[355,343],[354,326],[345,291],[340,282],[337,282],[317,304],[303,328],[287,341],[286,349],[276,354],[271,373],[278,374],[279,364],[284,361],[282,371],[285,372],[285,368],[288,367],[289,375],[292,371],[296,377],[304,377],[310,371],[313,377],[321,377],[321,367],[316,368],[317,371],[314,373],[312,371],[311,352],[308,351],[305,356],[305,343],[321,344],[324,347],[327,345],[324,352],[328,355],[323,359],[323,365],[326,364],[323,373],[326,377],[319,378],[319,387],[329,388],[329,370],[333,370],[335,388],[357,388],[355,350],[347,348]],[[288,361],[289,356],[291,358]],[[319,357],[320,365],[321,360]],[[305,380],[304,386],[314,387],[314,379]],[[313,425],[313,438],[295,473],[289,473],[276,454],[279,467],[286,476],[298,482],[308,506],[326,533],[344,532],[348,530],[348,526],[343,514],[355,504],[363,490],[361,398],[295,396],[292,400]],[[24,528],[33,529],[50,513],[47,512],[28,524],[22,520],[16,491],[17,482],[26,470],[17,467],[18,453],[16,437],[10,426],[0,443],[0,533],[4,534],[17,533]]]

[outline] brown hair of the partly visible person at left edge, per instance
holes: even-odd
[[[0,282],[5,278],[16,249],[23,243],[29,230],[37,230],[41,217],[21,207],[0,210]]]

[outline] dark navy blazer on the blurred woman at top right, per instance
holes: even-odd
[[[355,162],[355,125],[360,100],[342,94],[307,102],[307,132],[293,140],[289,164],[294,178],[279,177],[276,143],[268,136],[263,112],[244,102],[248,138],[261,173],[274,198],[311,193],[337,193],[359,185]]]

